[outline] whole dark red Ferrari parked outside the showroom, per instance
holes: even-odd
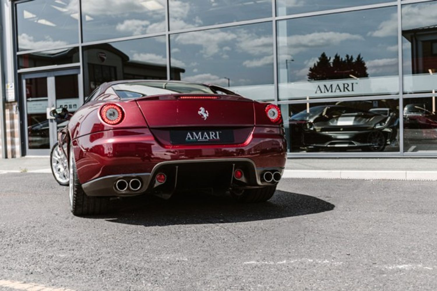
[[[286,161],[278,106],[219,86],[118,81],[97,88],[52,149],[74,215],[104,213],[111,197],[207,188],[240,202],[272,197]]]

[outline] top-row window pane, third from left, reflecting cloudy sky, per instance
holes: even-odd
[[[170,29],[222,24],[272,16],[272,1],[170,0]]]

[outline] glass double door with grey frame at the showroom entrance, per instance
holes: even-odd
[[[52,109],[65,107],[73,113],[82,105],[79,73],[69,69],[21,75],[26,155],[49,155],[58,130],[66,126],[66,120],[49,115]]]

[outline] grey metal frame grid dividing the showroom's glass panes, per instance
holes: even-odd
[[[18,51],[18,44],[17,44],[17,19],[16,19],[16,9],[15,5],[18,3],[24,3],[28,2],[30,0],[16,0],[14,1],[14,5],[12,5],[12,19],[14,20],[13,24],[13,38],[14,38],[14,54],[15,54],[15,64],[14,64],[14,72],[15,72],[15,81],[17,82],[18,79],[18,73],[30,73],[30,72],[39,72],[44,70],[51,70],[53,68],[60,68],[59,66],[48,66],[48,67],[37,67],[37,68],[31,68],[31,69],[22,69],[17,70],[17,56],[28,54],[28,53],[34,53],[34,52],[40,52],[40,51],[47,51],[47,50],[28,50],[28,51]],[[80,68],[80,82],[81,87],[79,88],[79,92],[81,95],[81,98],[84,98],[83,96],[83,47],[87,45],[98,45],[98,44],[104,44],[109,42],[115,42],[115,41],[128,41],[128,40],[135,40],[135,39],[142,39],[142,38],[152,38],[156,36],[164,36],[166,38],[166,74],[167,79],[171,79],[171,48],[170,48],[170,36],[172,34],[180,34],[180,33],[186,33],[186,32],[194,32],[194,31],[205,31],[205,30],[211,30],[211,29],[219,29],[219,28],[226,28],[226,27],[237,27],[241,25],[248,25],[248,24],[258,24],[258,23],[264,23],[264,22],[271,22],[272,24],[272,38],[273,38],[273,77],[274,77],[274,103],[283,105],[283,104],[299,104],[299,103],[321,103],[321,102],[335,102],[335,101],[354,101],[354,100],[375,100],[375,99],[399,99],[399,114],[402,116],[403,114],[403,99],[404,98],[421,98],[421,97],[432,97],[431,93],[414,93],[414,94],[406,94],[403,92],[403,67],[402,67],[402,6],[406,4],[412,4],[412,3],[427,3],[427,2],[433,2],[433,0],[391,0],[387,1],[385,3],[376,3],[376,4],[368,4],[368,5],[360,5],[360,6],[352,6],[352,7],[343,7],[339,9],[331,9],[331,10],[320,10],[320,11],[312,11],[307,13],[300,13],[300,14],[289,14],[284,16],[277,16],[277,0],[272,0],[272,16],[266,17],[266,18],[260,18],[260,19],[253,19],[253,20],[246,20],[246,21],[236,21],[231,23],[224,23],[224,24],[215,24],[215,25],[208,25],[208,26],[201,26],[201,27],[191,27],[191,28],[185,28],[185,29],[179,29],[179,30],[171,30],[170,29],[170,10],[169,10],[169,1],[165,1],[165,31],[152,33],[152,34],[141,34],[141,35],[135,35],[135,36],[128,36],[128,37],[121,37],[121,38],[112,38],[112,39],[105,39],[101,41],[90,41],[90,42],[83,42],[83,29],[82,29],[82,9],[81,9],[81,0],[78,1],[78,11],[79,11],[79,21],[78,21],[78,33],[79,33],[79,43],[78,44],[71,44],[66,46],[60,46],[60,47],[53,47],[50,48],[50,50],[55,49],[63,49],[63,48],[73,48],[78,47],[79,48],[79,58],[80,62],[75,64],[67,64],[65,68],[70,67],[77,67]],[[397,13],[398,13],[398,60],[399,60],[399,93],[394,95],[372,95],[372,96],[345,96],[345,97],[329,97],[329,98],[315,98],[315,99],[291,99],[291,100],[279,100],[278,96],[278,66],[277,66],[277,23],[278,21],[287,20],[287,19],[295,19],[295,18],[302,18],[302,17],[312,17],[312,16],[319,16],[319,15],[328,15],[328,14],[337,14],[337,13],[344,13],[344,12],[351,12],[351,11],[360,11],[360,10],[369,10],[369,9],[375,9],[375,8],[382,8],[382,7],[397,7]],[[20,98],[17,98],[19,104],[20,104]],[[22,115],[22,114],[21,114]],[[382,153],[288,153],[289,157],[430,157],[430,156],[437,156],[436,152],[426,152],[426,153],[405,153],[403,152],[403,120],[400,119],[399,122],[399,152],[382,152]],[[21,138],[22,139],[22,138]],[[22,140],[23,144],[23,140]]]

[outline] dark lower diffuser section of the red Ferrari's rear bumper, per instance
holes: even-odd
[[[236,179],[233,173],[243,171],[243,177]],[[284,167],[256,168],[250,159],[209,159],[189,161],[164,161],[156,164],[150,173],[111,175],[88,181],[82,185],[89,196],[134,196],[154,193],[163,197],[170,196],[177,189],[192,188],[258,188],[276,185],[277,181],[264,181],[266,171],[279,172]],[[156,175],[166,175],[166,181],[160,183]],[[132,179],[141,181],[138,190],[127,188],[119,191],[117,181],[125,180],[128,185]]]

